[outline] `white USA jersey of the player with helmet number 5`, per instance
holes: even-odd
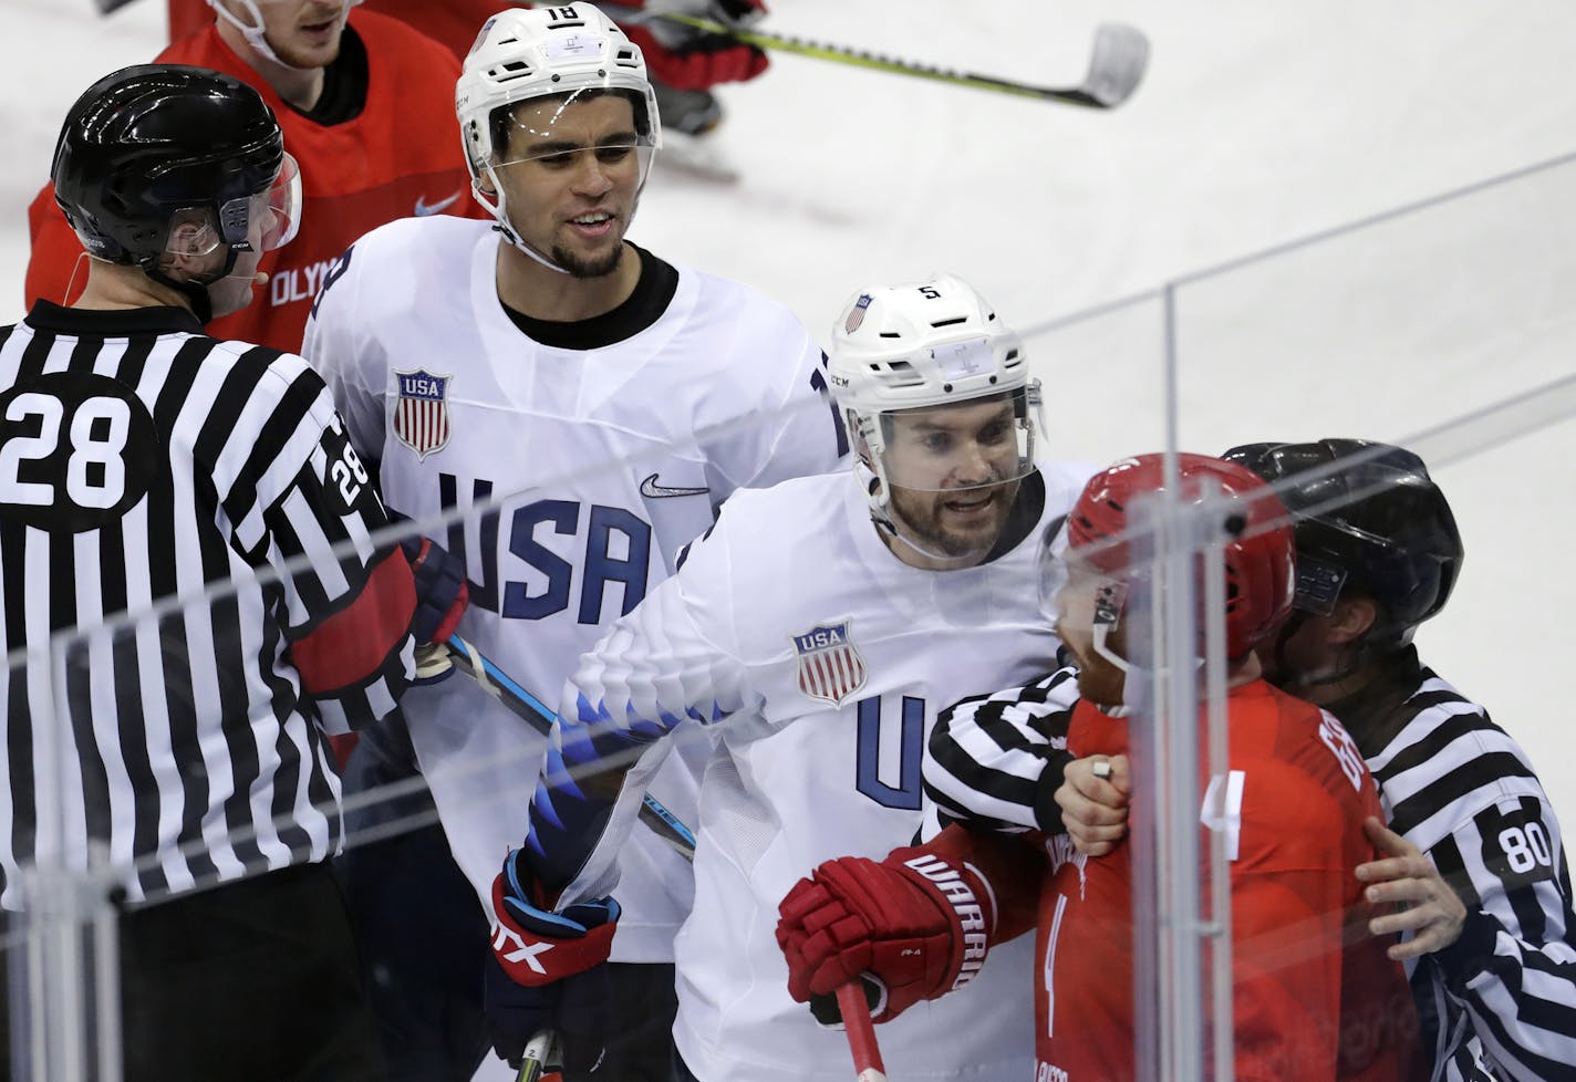
[[[719,739],[676,951],[675,1038],[701,1082],[851,1077],[843,1035],[788,997],[777,904],[823,860],[911,844],[927,816],[920,754],[938,712],[1054,658],[1035,551],[1089,472],[1042,466],[1024,480],[1026,493],[1045,488],[1032,528],[996,559],[952,572],[900,562],[853,477],[739,493],[678,575],[582,661],[559,713],[591,721],[559,723],[550,772],[574,769],[593,734],[602,753],[621,742],[646,751],[589,852],[591,839],[574,841],[574,802],[539,791],[531,857],[578,869],[561,904],[613,888],[619,838],[646,833],[634,817],[663,750],[695,729]],[[564,813],[564,832],[552,813]],[[555,863],[559,854],[567,860]],[[1020,940],[968,989],[883,1024],[890,1077],[1032,1077],[1031,954]]]

